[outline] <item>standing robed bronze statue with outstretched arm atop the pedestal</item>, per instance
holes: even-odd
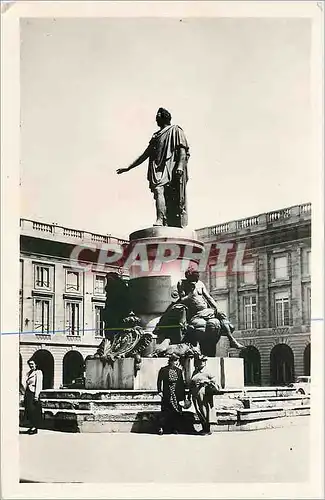
[[[128,172],[149,159],[148,181],[156,202],[154,226],[187,226],[186,184],[189,147],[185,134],[178,125],[171,125],[171,114],[159,108],[156,122],[160,130],[155,132],[147,149],[127,168],[119,168],[118,174]]]

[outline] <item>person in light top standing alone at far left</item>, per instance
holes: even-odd
[[[29,421],[30,429],[27,434],[37,434],[42,421],[42,407],[39,400],[43,389],[43,373],[37,369],[33,359],[28,362],[30,368],[26,378],[26,390],[24,396],[25,418]]]

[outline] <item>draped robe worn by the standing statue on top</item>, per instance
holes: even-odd
[[[150,189],[155,192],[158,187],[164,188],[167,225],[185,227],[187,225],[187,161],[190,156],[185,134],[178,125],[168,125],[152,136],[149,148]],[[186,157],[180,165],[183,175],[178,177],[175,175],[175,170],[178,166],[181,148],[185,149]]]

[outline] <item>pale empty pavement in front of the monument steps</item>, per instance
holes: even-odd
[[[308,480],[308,417],[298,425],[211,436],[20,435],[21,481],[86,483]],[[191,472],[190,472],[191,471]]]

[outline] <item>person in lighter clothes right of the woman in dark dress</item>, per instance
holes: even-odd
[[[206,356],[199,356],[190,382],[190,393],[194,407],[202,425],[199,434],[211,434],[210,408],[213,408],[213,394],[218,393],[216,378],[206,368]]]

